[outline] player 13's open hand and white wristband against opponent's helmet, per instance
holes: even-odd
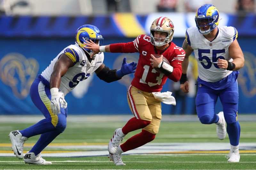
[[[98,54],[99,52],[110,52],[109,45],[106,46],[99,46],[98,44],[95,44],[92,40],[84,42],[84,48],[92,50],[91,58]]]

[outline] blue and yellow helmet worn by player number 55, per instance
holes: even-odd
[[[204,4],[196,11],[196,26],[198,31],[204,35],[209,34],[219,25],[219,11],[212,4]],[[207,30],[201,30],[200,26],[210,26]]]

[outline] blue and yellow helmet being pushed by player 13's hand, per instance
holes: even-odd
[[[83,43],[86,40],[87,41],[92,40],[94,43],[101,46],[103,45],[104,38],[102,37],[100,30],[96,26],[87,24],[87,25],[80,26],[76,30],[76,42],[81,48],[86,50],[86,52],[88,52],[89,54],[92,54],[92,50],[84,48],[85,45]]]

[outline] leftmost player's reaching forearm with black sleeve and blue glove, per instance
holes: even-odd
[[[124,57],[121,69],[119,70],[113,70],[109,69],[105,64],[101,64],[100,67],[95,70],[95,73],[97,76],[107,82],[113,82],[120,80],[124,75],[134,73],[137,68],[137,63],[136,62],[131,62],[131,63],[126,63],[126,57]]]

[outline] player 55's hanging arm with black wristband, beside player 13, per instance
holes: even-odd
[[[182,67],[182,74],[181,74],[181,78],[180,78],[180,89],[182,90],[182,92],[184,93],[188,93],[188,78],[187,78],[187,70],[188,70],[188,57],[189,55],[191,55],[191,53],[193,52],[193,49],[190,47],[190,45],[188,45],[187,40],[185,39],[183,44],[182,44],[182,48],[185,51],[185,58],[183,60],[183,62],[181,63],[181,67]]]

